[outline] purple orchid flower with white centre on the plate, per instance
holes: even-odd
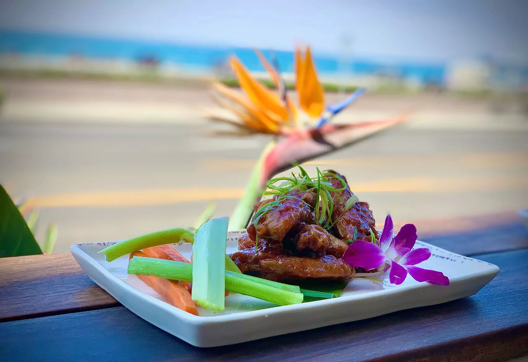
[[[416,227],[412,224],[403,225],[398,235],[393,237],[393,223],[390,215],[385,219],[385,225],[380,236],[380,245],[356,240],[348,246],[343,259],[350,265],[371,271],[382,268],[386,272],[390,268],[389,281],[401,284],[407,274],[418,282],[449,285],[449,278],[434,270],[422,269],[416,264],[426,261],[431,256],[428,248],[412,250],[416,243]]]

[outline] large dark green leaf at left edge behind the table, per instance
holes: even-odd
[[[0,185],[0,257],[42,254],[26,221]]]

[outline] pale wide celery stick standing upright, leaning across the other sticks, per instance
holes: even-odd
[[[192,299],[211,311],[223,311],[225,241],[228,217],[204,222],[194,234]]]

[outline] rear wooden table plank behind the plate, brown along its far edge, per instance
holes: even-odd
[[[466,256],[528,248],[528,230],[511,212],[414,224],[422,241]],[[0,322],[117,305],[71,254],[0,259]]]

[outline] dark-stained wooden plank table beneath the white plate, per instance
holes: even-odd
[[[415,224],[421,240],[501,272],[457,301],[201,349],[122,307],[70,254],[5,258],[0,360],[492,361],[528,354],[528,230],[516,214]]]

